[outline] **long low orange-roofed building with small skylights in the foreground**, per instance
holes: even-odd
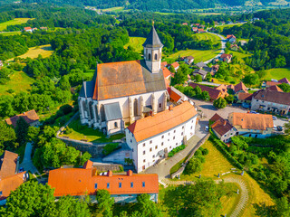
[[[92,161],[87,161],[82,168],[51,170],[47,184],[54,189],[56,198],[64,195],[89,195],[92,203],[97,203],[95,195],[104,189],[111,194],[115,203],[136,203],[137,196],[141,193],[148,193],[151,201],[158,202],[157,174],[135,175],[129,170],[125,175],[113,175],[112,171],[98,175]]]

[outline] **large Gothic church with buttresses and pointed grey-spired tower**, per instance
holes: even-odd
[[[154,25],[143,43],[144,60],[97,65],[91,81],[84,81],[79,96],[82,125],[111,136],[125,125],[166,110],[166,89],[161,58],[163,44]]]

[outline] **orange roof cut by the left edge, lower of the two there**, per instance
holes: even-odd
[[[26,171],[20,174],[7,176],[0,180],[0,192],[2,192],[2,195],[0,196],[0,201],[7,198],[11,191],[14,191],[17,187],[24,183],[25,173]]]

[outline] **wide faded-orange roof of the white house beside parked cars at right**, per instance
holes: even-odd
[[[233,112],[229,114],[228,119],[233,126],[243,129],[266,130],[267,127],[274,127],[271,115]]]

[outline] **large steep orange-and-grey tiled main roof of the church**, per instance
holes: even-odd
[[[163,73],[151,73],[145,61],[120,61],[98,64],[92,99],[114,99],[166,90]]]

